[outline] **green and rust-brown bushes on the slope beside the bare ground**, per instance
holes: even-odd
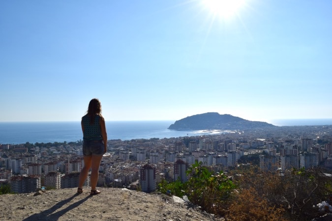
[[[196,162],[187,174],[185,183],[163,180],[159,191],[186,195],[203,210],[230,220],[312,220],[327,212],[316,205],[332,194],[332,179],[319,168],[281,174],[245,166],[226,175]]]

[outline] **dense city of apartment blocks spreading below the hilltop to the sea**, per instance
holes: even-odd
[[[214,171],[227,171],[239,163],[255,163],[248,159],[257,159],[262,170],[281,173],[303,167],[332,169],[332,126],[108,140],[108,152],[99,168],[98,186],[127,187],[149,193],[163,179],[185,181],[185,171],[195,161]],[[0,183],[9,185],[14,193],[30,193],[41,187],[77,187],[83,164],[82,141],[0,145]]]

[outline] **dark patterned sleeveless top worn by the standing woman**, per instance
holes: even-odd
[[[84,127],[83,140],[102,140],[101,129],[99,124],[100,116],[98,114],[94,117],[93,124],[90,124],[89,115],[82,117],[82,123]]]

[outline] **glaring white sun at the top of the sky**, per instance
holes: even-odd
[[[214,17],[230,19],[244,6],[245,0],[202,0],[202,3]]]

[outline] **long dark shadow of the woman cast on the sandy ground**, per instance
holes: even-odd
[[[53,213],[54,211],[58,210],[63,205],[69,203],[73,198],[75,198],[78,195],[79,195],[79,193],[75,193],[73,196],[69,197],[68,199],[58,202],[57,204],[52,206],[50,209],[47,209],[40,213],[33,214],[30,217],[27,217],[26,219],[24,219],[23,221],[58,220],[63,214],[65,214],[69,210],[76,208],[77,206],[79,206],[80,204],[82,204],[83,202],[87,201],[90,198],[90,195],[88,195],[87,197],[67,206],[66,208],[64,208],[56,213]]]

